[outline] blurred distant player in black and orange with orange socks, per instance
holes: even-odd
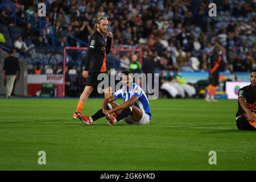
[[[218,77],[220,75],[220,64],[222,61],[220,53],[220,47],[214,47],[213,55],[209,57],[209,86],[207,90],[207,96],[205,97],[205,101],[217,102],[215,100],[216,89],[218,85]]]

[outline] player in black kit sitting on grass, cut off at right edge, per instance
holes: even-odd
[[[250,81],[238,92],[238,130],[256,130],[256,69],[251,72]]]

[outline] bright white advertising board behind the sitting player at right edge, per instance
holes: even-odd
[[[228,94],[228,99],[237,99],[238,90],[243,88],[243,86],[250,85],[250,82],[226,82],[226,93]]]

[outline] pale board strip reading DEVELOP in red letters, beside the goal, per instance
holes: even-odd
[[[53,83],[53,84],[63,84],[63,75],[28,75],[27,84],[42,84]]]

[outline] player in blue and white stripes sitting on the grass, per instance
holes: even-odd
[[[123,71],[122,73],[124,74],[122,76],[122,88],[117,90],[113,96],[106,98],[102,104],[102,109],[91,117],[81,115],[80,120],[82,122],[90,125],[97,119],[106,116],[109,125],[114,125],[120,120],[131,125],[148,125],[150,123],[151,113],[146,94],[140,86],[133,83],[133,78],[129,75],[129,71]],[[118,98],[123,98],[123,104],[117,105],[113,103]],[[109,104],[112,105],[112,110],[106,109]],[[112,113],[118,114],[113,117],[110,115]]]

